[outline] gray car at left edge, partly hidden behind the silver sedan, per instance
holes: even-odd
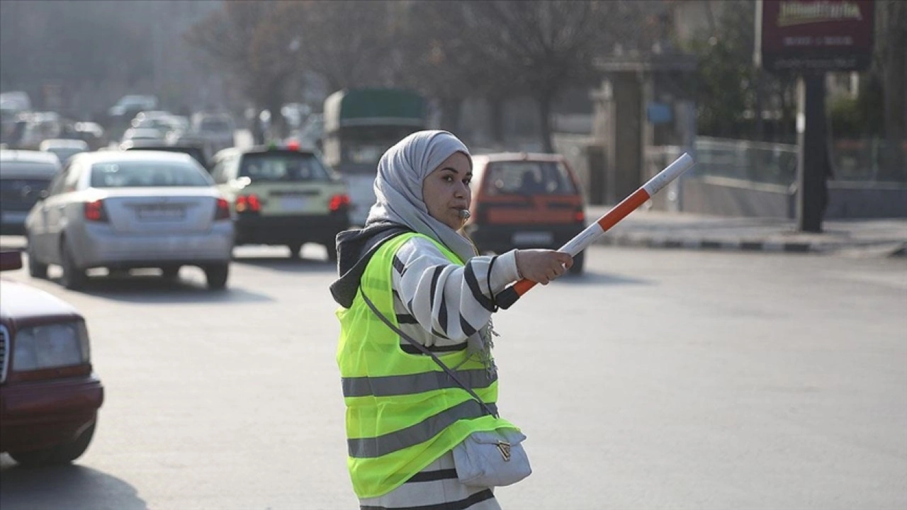
[[[54,154],[0,151],[0,233],[25,233],[25,216],[59,171]]]

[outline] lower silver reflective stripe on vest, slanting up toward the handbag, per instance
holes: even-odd
[[[494,404],[486,405],[497,414],[497,406]],[[349,456],[355,458],[385,456],[397,450],[424,443],[432,437],[441,434],[445,428],[450,427],[457,420],[482,417],[484,414],[482,406],[475,400],[469,399],[445,409],[433,417],[427,417],[412,427],[406,427],[384,436],[346,439],[346,447],[349,450]]]

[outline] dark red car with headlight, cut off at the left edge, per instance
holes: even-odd
[[[22,267],[0,253],[0,270]],[[69,463],[92,442],[104,399],[85,319],[15,280],[0,285],[0,452],[24,466]]]

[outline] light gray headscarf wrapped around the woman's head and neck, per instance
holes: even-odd
[[[422,195],[425,177],[454,152],[466,154],[472,165],[466,145],[446,131],[414,132],[388,149],[378,162],[375,205],[368,212],[366,226],[375,221],[402,223],[444,244],[463,261],[473,258],[473,243],[435,220]]]

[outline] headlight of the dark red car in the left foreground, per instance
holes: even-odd
[[[83,321],[46,324],[15,333],[13,370],[70,367],[91,358]]]

